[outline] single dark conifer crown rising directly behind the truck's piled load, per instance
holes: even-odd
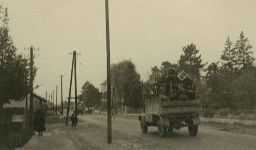
[[[201,55],[197,56],[199,50],[196,49],[196,45],[191,43],[186,47],[182,47],[184,54],[181,55],[178,62],[178,70],[184,70],[190,74],[193,79],[200,80],[200,71],[205,64],[202,63]]]

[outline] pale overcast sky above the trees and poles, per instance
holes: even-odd
[[[38,72],[35,90],[68,97],[72,55],[77,56],[78,94],[86,80],[96,87],[106,79],[104,0],[3,0],[9,29],[18,53],[35,51]],[[109,0],[110,61],[131,59],[146,81],[151,67],[176,63],[182,47],[194,43],[203,62],[217,62],[227,36],[236,41],[241,31],[256,53],[256,1],[245,0]],[[24,51],[24,47],[26,50]],[[255,54],[254,54],[255,56]],[[74,96],[74,80],[72,96]],[[48,99],[48,96],[47,96]]]

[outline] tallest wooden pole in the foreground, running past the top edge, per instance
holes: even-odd
[[[109,20],[108,20],[108,0],[105,0],[106,15],[106,44],[107,44],[107,120],[108,120],[108,144],[112,143],[111,126],[111,72],[110,72],[110,40],[109,40]]]

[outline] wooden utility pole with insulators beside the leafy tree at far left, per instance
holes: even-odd
[[[30,94],[29,94],[29,110],[30,110],[30,124],[33,128],[33,47],[30,47],[30,79],[29,79],[29,86],[30,86]]]

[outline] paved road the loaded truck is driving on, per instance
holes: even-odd
[[[107,127],[107,116],[81,116],[84,122],[90,122]],[[139,121],[135,119],[127,119],[116,117],[112,118],[112,130],[128,134],[141,139],[141,143],[156,143],[160,145],[159,149],[232,149],[232,150],[254,150],[256,149],[256,136],[238,134],[226,131],[217,131],[213,129],[203,128],[199,126],[196,137],[188,134],[186,127],[180,130],[174,130],[171,134],[167,134],[165,138],[161,138],[156,127],[149,127],[148,133],[143,134],[140,130]],[[163,146],[163,147],[161,147]]]

